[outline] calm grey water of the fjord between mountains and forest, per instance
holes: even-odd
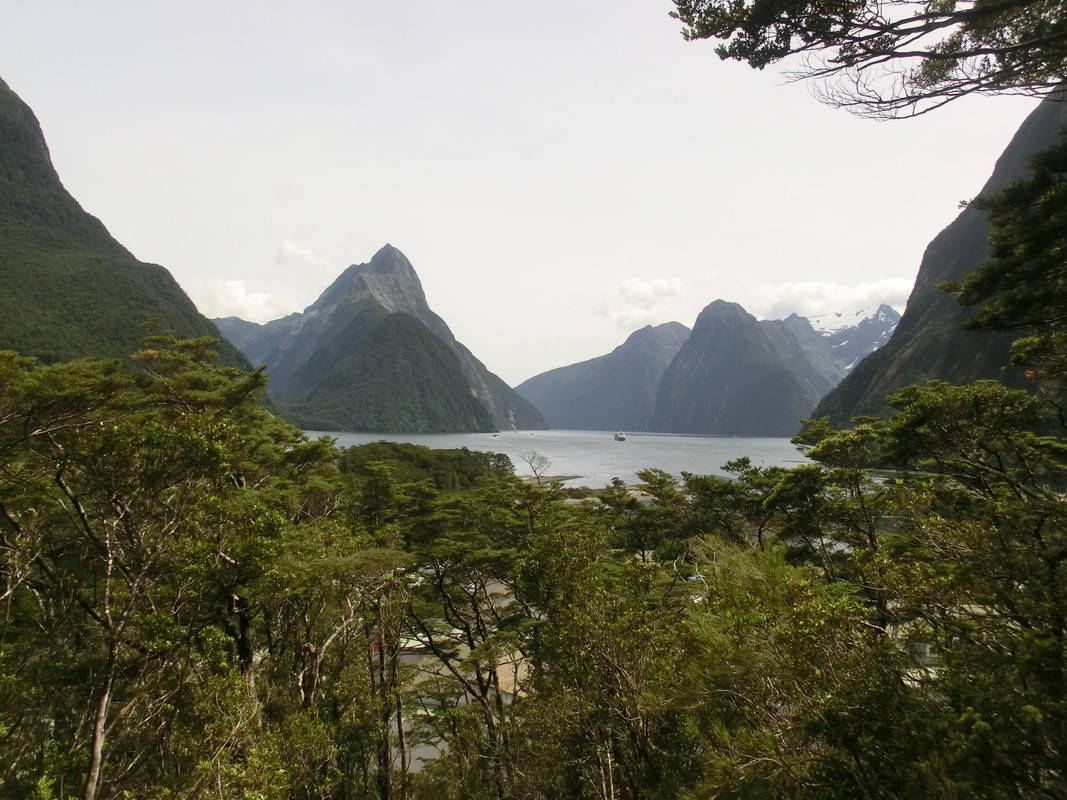
[[[610,431],[509,431],[490,433],[322,433],[337,439],[339,447],[370,442],[407,442],[434,449],[465,447],[469,450],[503,452],[515,465],[517,475],[531,475],[524,452],[544,455],[551,466],[547,476],[578,476],[564,485],[600,489],[620,478],[638,481],[637,470],[663,469],[675,477],[683,471],[719,475],[728,461],[747,455],[754,466],[796,466],[805,458],[787,438],[739,438],[733,436],[689,436],[668,433],[627,433],[616,442]]]

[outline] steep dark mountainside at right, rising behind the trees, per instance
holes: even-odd
[[[1023,121],[982,194],[1024,177],[1030,157],[1060,141],[1067,123],[1067,103],[1062,98],[1062,93],[1046,98]],[[838,426],[856,416],[883,416],[889,413],[887,395],[935,378],[951,383],[992,378],[1021,385],[1017,373],[1004,369],[1015,336],[961,330],[960,322],[973,309],[959,306],[953,295],[936,288],[942,281],[960,281],[977,269],[989,253],[988,234],[985,214],[968,207],[935,237],[923,254],[908,307],[893,336],[823,398],[815,416],[828,416]]]

